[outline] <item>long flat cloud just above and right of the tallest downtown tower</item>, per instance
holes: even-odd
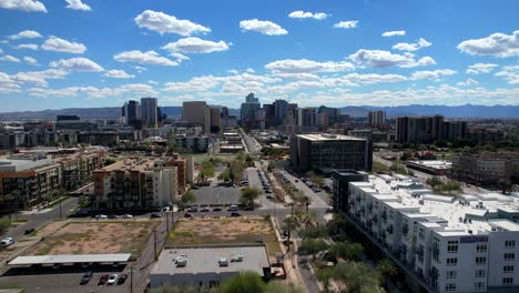
[[[355,67],[350,62],[318,62],[307,59],[285,59],[271,62],[265,65],[273,73],[316,73],[349,71]]]

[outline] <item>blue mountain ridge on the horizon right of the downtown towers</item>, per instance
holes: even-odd
[[[519,105],[428,105],[410,104],[397,107],[344,107],[342,113],[352,117],[366,117],[369,111],[386,111],[388,118],[397,115],[434,115],[446,118],[519,118]]]

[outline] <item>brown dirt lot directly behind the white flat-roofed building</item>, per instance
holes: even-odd
[[[246,244],[264,242],[268,254],[281,252],[271,221],[263,216],[180,219],[169,245]]]

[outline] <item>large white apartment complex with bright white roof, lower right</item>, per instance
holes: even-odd
[[[405,176],[349,182],[357,226],[431,292],[519,292],[519,199],[432,194]]]

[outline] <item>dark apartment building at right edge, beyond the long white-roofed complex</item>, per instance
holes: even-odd
[[[450,176],[455,180],[495,185],[499,180],[510,180],[519,168],[518,152],[455,153]]]

